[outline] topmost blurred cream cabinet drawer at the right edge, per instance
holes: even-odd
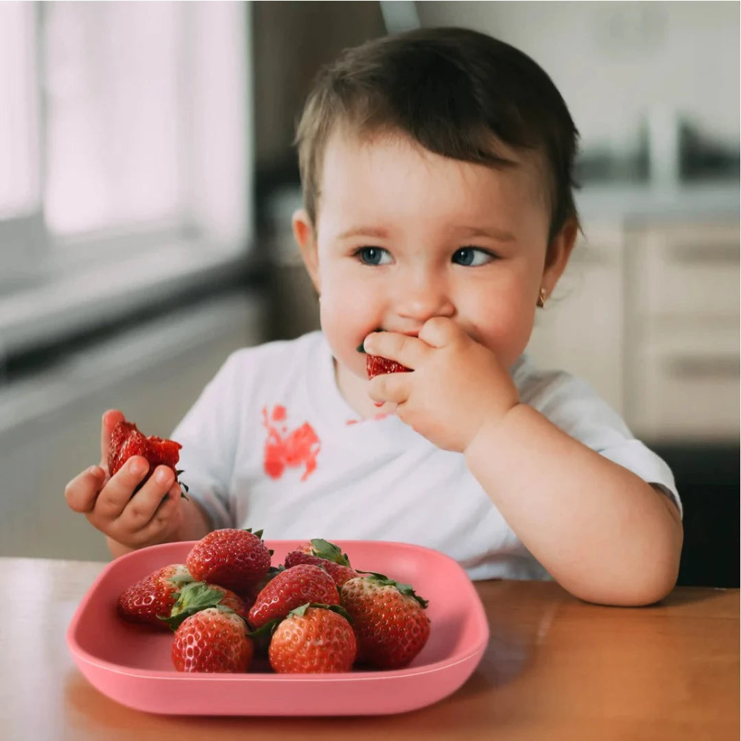
[[[628,244],[634,259],[627,289],[639,313],[668,319],[738,316],[737,224],[652,227]]]

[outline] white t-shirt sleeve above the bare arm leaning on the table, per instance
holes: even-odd
[[[682,501],[671,469],[633,436],[619,414],[591,385],[562,371],[521,371],[515,382],[522,402],[574,439],[659,488],[682,514]]]

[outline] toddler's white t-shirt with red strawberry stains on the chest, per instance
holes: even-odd
[[[520,400],[679,504],[668,466],[585,382],[511,369]],[[408,542],[472,579],[548,578],[466,468],[397,416],[359,419],[336,386],[321,332],[233,353],[173,432],[179,468],[216,528],[266,539]]]

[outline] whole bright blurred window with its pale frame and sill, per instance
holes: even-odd
[[[0,3],[0,348],[244,260],[248,10]]]

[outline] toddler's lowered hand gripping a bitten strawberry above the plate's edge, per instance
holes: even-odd
[[[132,456],[116,472],[108,473],[110,433],[124,419],[117,410],[103,415],[101,462],[75,476],[64,488],[67,505],[87,517],[93,527],[127,548],[176,539],[182,525],[180,485],[173,471],[158,466],[153,476],[134,494],[149,471],[142,456]]]

